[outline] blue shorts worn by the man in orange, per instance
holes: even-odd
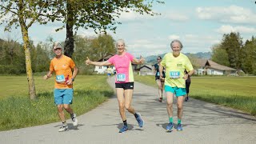
[[[56,105],[72,104],[73,89],[54,89],[54,103]]]

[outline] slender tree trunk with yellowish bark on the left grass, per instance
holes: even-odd
[[[23,38],[23,48],[25,51],[25,59],[26,59],[26,76],[27,76],[27,82],[29,84],[29,93],[30,93],[30,99],[36,99],[36,92],[35,92],[35,86],[34,86],[34,77],[32,73],[32,66],[31,66],[31,56],[30,56],[30,42],[29,42],[29,36],[28,36],[28,30],[25,26],[21,26],[22,28],[22,38]]]

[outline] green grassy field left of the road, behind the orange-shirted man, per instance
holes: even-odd
[[[38,99],[28,96],[26,76],[0,76],[0,131],[59,122],[54,105],[54,78],[34,77]],[[78,115],[105,102],[114,94],[106,75],[78,75],[74,81],[74,112]],[[66,113],[66,118],[70,115]]]

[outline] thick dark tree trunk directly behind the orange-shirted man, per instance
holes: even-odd
[[[73,35],[73,26],[74,26],[74,10],[72,6],[72,0],[67,2],[67,20],[66,20],[66,40],[64,46],[64,54],[68,57],[72,57],[74,53],[74,35]]]

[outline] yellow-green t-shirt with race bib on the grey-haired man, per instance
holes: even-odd
[[[167,53],[163,58],[161,65],[166,69],[166,80],[165,85],[171,87],[179,87],[185,88],[186,81],[183,79],[184,77],[184,70],[190,71],[194,70],[190,59],[186,57],[185,54],[180,53],[178,57],[174,57],[173,53]],[[179,78],[170,78],[174,77],[175,74]]]

